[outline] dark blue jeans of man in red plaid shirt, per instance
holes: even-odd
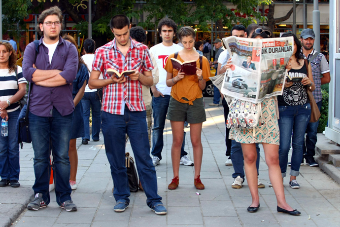
[[[130,202],[130,188],[125,167],[125,133],[128,134],[134,151],[139,180],[147,197],[146,203],[152,207],[162,197],[157,194],[156,170],[150,157],[146,112],[131,112],[125,108],[124,115],[102,111],[102,134],[105,152],[110,163],[113,180],[113,196],[117,200]]]

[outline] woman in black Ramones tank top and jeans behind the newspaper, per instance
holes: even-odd
[[[315,89],[310,63],[305,61],[299,39],[292,33],[284,33],[282,37],[294,38],[294,51],[291,57],[292,69],[288,72],[287,81],[284,84],[283,95],[277,97],[280,118],[280,148],[279,160],[282,178],[286,176],[288,153],[292,139],[292,158],[290,167],[289,185],[292,189],[299,189],[296,181],[299,176],[301,160],[303,160],[303,145],[305,132],[310,116],[310,105],[307,89]],[[308,71],[307,71],[308,70]],[[293,80],[293,81],[292,81]],[[292,135],[293,133],[293,135]]]

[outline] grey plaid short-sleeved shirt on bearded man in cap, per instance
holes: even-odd
[[[308,54],[307,59],[309,60],[314,53],[316,52],[315,49],[312,50],[310,54]],[[306,57],[306,56],[305,56]],[[321,94],[321,75],[330,72],[329,65],[325,56],[319,53],[313,61],[310,63],[312,68],[312,75],[315,84],[315,90],[313,91],[313,96],[315,102],[320,102],[322,100]]]

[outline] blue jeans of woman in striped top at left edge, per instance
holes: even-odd
[[[17,143],[16,123],[20,109],[8,113],[8,136],[0,135],[0,177],[6,180],[19,180],[19,144]],[[1,119],[1,118],[0,118]]]

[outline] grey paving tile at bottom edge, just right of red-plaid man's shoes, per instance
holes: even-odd
[[[199,207],[169,207],[168,225],[202,225],[203,218]]]

